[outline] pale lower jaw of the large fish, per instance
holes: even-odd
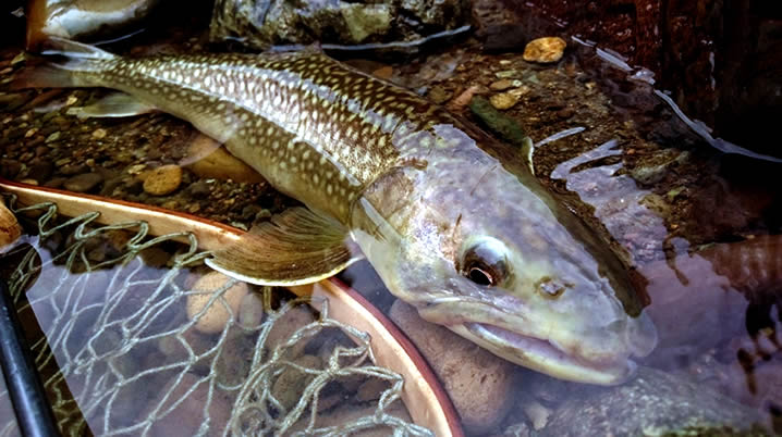
[[[625,382],[636,369],[628,359],[598,362],[573,357],[548,340],[496,325],[471,322],[449,328],[498,357],[560,379],[611,386]]]

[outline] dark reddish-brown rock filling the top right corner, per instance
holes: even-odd
[[[655,87],[672,90],[684,113],[713,128],[714,137],[782,157],[779,141],[769,140],[778,136],[775,121],[782,118],[782,3],[622,0],[604,5],[594,0],[509,0],[504,4],[515,14],[513,23],[535,37],[578,35],[616,51],[632,66],[649,68]],[[604,62],[592,58],[587,66],[604,76]],[[624,86],[611,83],[614,79],[601,77],[601,82],[611,93],[624,92]]]

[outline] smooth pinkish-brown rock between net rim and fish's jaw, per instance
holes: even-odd
[[[391,307],[390,316],[429,362],[469,433],[491,430],[504,419],[518,390],[515,365],[426,322],[400,300]]]

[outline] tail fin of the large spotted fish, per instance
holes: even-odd
[[[117,59],[97,47],[58,37],[50,37],[45,47],[41,57],[28,58],[49,62],[23,70],[12,80],[11,89],[91,87],[96,84],[78,73],[100,72],[107,61]]]

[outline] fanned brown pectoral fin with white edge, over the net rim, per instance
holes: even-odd
[[[352,255],[347,241],[347,229],[339,223],[305,208],[293,208],[216,251],[215,258],[206,263],[251,284],[310,284],[358,260]]]

